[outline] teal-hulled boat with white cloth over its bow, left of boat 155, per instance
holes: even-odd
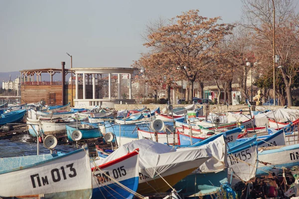
[[[212,137],[208,138],[209,140],[205,143],[202,141],[204,144],[201,145],[201,147],[209,149],[212,158],[173,187],[175,190],[181,190],[180,194],[183,197],[204,198],[204,196],[208,196],[210,198],[210,196],[213,196],[214,198],[219,190],[225,190],[227,195],[230,195],[227,198],[234,198],[235,196],[235,193],[227,184],[227,149],[224,136],[214,135]]]

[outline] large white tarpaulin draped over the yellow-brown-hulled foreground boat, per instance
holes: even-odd
[[[135,149],[139,149],[140,172],[150,178],[158,174],[169,175],[196,168],[211,157],[207,147],[173,149],[151,140],[141,139],[121,146],[107,158],[96,161],[96,164],[115,160]]]

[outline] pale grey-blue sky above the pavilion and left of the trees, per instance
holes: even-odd
[[[146,52],[146,24],[199,9],[240,19],[241,0],[0,0],[0,72],[130,67]]]

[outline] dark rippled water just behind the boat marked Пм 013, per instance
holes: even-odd
[[[24,135],[19,141],[0,140],[0,158],[36,155],[37,144],[27,143],[27,138],[30,138],[30,136]],[[76,150],[76,148],[68,145],[57,145],[55,150],[67,153]],[[49,153],[49,149],[45,148],[42,143],[39,144],[39,154]]]

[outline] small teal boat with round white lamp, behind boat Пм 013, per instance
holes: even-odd
[[[72,126],[65,124],[67,138],[72,142],[75,141],[72,139],[72,133],[75,130],[79,130],[81,132],[80,140],[103,137],[103,134],[101,133],[99,127],[94,127],[94,126],[90,126],[90,125],[86,125],[86,124],[82,124],[82,125],[79,124],[78,128],[75,126],[76,125],[74,125],[74,124]]]

